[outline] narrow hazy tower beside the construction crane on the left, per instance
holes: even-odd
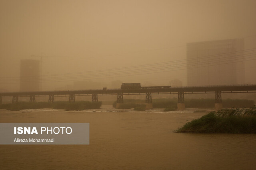
[[[30,92],[40,90],[39,60],[20,61],[20,91]]]

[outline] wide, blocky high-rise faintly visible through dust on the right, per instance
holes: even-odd
[[[188,86],[244,84],[244,39],[187,43]]]

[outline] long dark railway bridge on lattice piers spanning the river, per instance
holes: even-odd
[[[165,86],[162,86],[165,87]],[[94,90],[62,90],[62,91],[38,91],[38,92],[4,92],[0,93],[0,104],[2,97],[12,97],[12,103],[18,102],[18,96],[30,96],[30,102],[36,101],[36,96],[48,96],[48,102],[54,102],[54,96],[69,96],[69,102],[75,102],[75,96],[92,96],[92,102],[98,102],[99,95],[117,95],[118,108],[123,103],[123,95],[145,95],[146,109],[152,108],[152,94],[178,94],[178,109],[184,110],[184,94],[208,94],[215,93],[215,109],[222,109],[221,95],[223,93],[255,93],[256,84],[221,85],[221,86],[181,86],[139,89],[94,89]]]

